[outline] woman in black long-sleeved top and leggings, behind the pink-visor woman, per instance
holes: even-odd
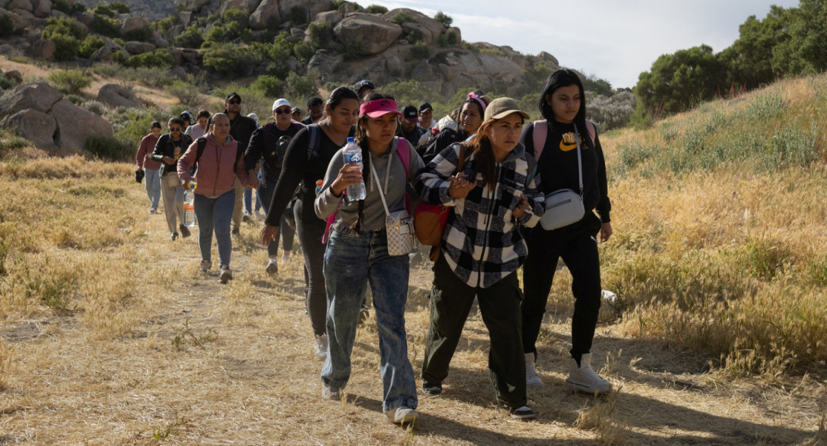
[[[316,182],[324,178],[333,154],[347,143],[352,135],[353,124],[359,115],[359,97],[350,88],[340,87],[327,97],[325,119],[305,127],[290,140],[284,153],[284,164],[279,181],[275,185],[269,204],[265,225],[261,228],[261,245],[269,246],[279,233],[281,216],[300,187],[293,211],[296,219],[296,235],[304,255],[304,282],[306,284],[306,309],[313,326],[314,353],[318,358],[327,356],[325,317],[327,295],[324,288],[325,221],[313,211]]]

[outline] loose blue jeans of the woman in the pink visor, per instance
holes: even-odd
[[[322,381],[342,389],[351,376],[351,352],[367,284],[373,292],[379,331],[382,411],[417,406],[414,369],[408,359],[405,302],[408,300],[409,259],[388,255],[385,231],[356,235],[331,230],[324,254],[327,286],[327,358]]]

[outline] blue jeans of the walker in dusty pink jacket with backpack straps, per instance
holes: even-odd
[[[211,260],[210,248],[213,244],[213,228],[215,240],[218,242],[218,262],[230,266],[232,254],[232,238],[230,237],[230,223],[232,208],[236,204],[236,191],[230,189],[218,198],[195,194],[195,218],[198,219],[198,249],[201,250],[202,260]]]

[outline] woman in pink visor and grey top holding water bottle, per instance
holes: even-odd
[[[370,283],[379,332],[382,411],[403,424],[416,420],[418,403],[404,320],[409,258],[407,253],[389,253],[385,206],[390,212],[405,209],[405,185],[423,163],[404,138],[394,136],[397,116],[401,113],[393,97],[366,94],[355,138],[364,168],[359,172],[352,169],[355,164],[344,164],[342,150],[334,154],[316,197],[316,214],[327,218],[337,212],[324,256],[329,346],[322,367],[323,396],[337,400],[350,378],[356,325]],[[348,186],[361,181],[365,199],[342,197]]]

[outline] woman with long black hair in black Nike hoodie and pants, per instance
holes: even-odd
[[[594,125],[586,121],[586,96],[574,71],[560,69],[549,76],[540,97],[540,112],[545,120],[525,126],[520,139],[526,152],[538,159],[538,177],[542,178],[540,191],[545,195],[557,189],[580,191],[577,162],[577,138],[580,138],[586,215],[580,221],[556,230],[544,230],[537,225],[526,237],[528,258],[523,263],[522,305],[526,385],[535,389],[543,387],[543,381],[534,370],[537,356],[534,344],[543,322],[557,261],[562,258],[571,272],[571,292],[575,298],[566,386],[588,393],[604,393],[611,389],[611,383],[591,368],[590,350],[602,291],[597,240],[604,242],[612,234],[609,223],[611,203],[607,195],[603,149]],[[535,126],[544,127],[538,128],[541,132],[538,136],[545,133],[542,148],[534,147]],[[595,238],[598,235],[600,239]]]

